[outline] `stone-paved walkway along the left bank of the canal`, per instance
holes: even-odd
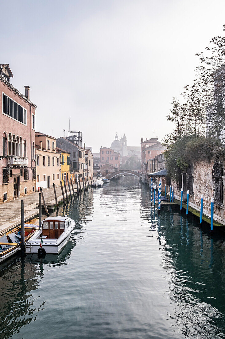
[[[95,178],[93,178],[96,180]],[[91,181],[89,181],[91,185]],[[71,186],[71,185],[70,185]],[[83,184],[81,184],[83,188]],[[69,188],[67,186],[68,197],[70,197]],[[77,192],[76,185],[74,184],[74,192]],[[73,194],[72,187],[71,193]],[[55,195],[53,188],[43,191],[45,202],[47,206],[55,206]],[[65,192],[64,192],[65,194]],[[56,187],[57,200],[60,202],[62,200],[62,191],[61,187]],[[65,195],[66,199],[66,195]],[[38,200],[39,192],[32,193],[23,198],[18,198],[16,200],[8,201],[3,204],[0,204],[0,235],[5,233],[7,230],[10,230],[12,227],[20,225],[20,202],[24,201],[24,220],[25,222],[34,218],[38,215]]]

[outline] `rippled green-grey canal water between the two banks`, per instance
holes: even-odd
[[[82,193],[57,257],[0,268],[0,338],[225,338],[225,240],[125,177]]]

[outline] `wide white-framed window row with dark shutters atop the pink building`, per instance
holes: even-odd
[[[22,122],[25,125],[27,124],[26,109],[4,93],[2,93],[2,113],[8,115],[12,119]]]

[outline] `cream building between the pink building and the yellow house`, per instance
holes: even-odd
[[[36,132],[36,189],[60,185],[60,153],[56,152],[56,139]]]

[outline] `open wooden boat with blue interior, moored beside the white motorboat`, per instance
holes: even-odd
[[[38,226],[26,224],[24,226],[25,245],[38,231]],[[13,228],[0,237],[0,263],[17,254],[21,250],[21,226]]]

